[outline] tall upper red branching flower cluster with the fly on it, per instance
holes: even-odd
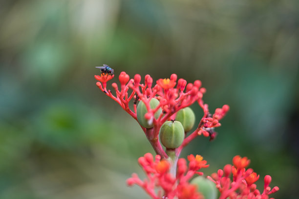
[[[165,121],[175,118],[177,111],[188,107],[197,101],[204,112],[195,131],[186,137],[181,146],[176,149],[177,156],[179,156],[183,147],[189,144],[189,142],[198,135],[202,134],[206,137],[210,136],[210,140],[214,139],[216,135],[214,127],[220,126],[219,120],[222,119],[229,111],[229,106],[224,105],[222,108],[217,108],[213,115],[210,114],[208,104],[204,104],[202,100],[206,89],[201,87],[200,80],[195,80],[193,83],[187,84],[186,80],[177,80],[177,75],[172,74],[170,79],[159,79],[156,81],[156,84],[153,85],[153,80],[149,75],[146,75],[144,83],[141,83],[140,75],[136,74],[134,79],[130,79],[128,74],[121,72],[119,75],[121,90],[119,90],[116,83],[112,83],[112,87],[115,90],[115,95],[113,95],[110,90],[107,90],[106,84],[106,82],[111,80],[113,77],[113,75],[95,76],[96,80],[102,82],[97,82],[97,86],[106,93],[107,96],[115,100],[126,112],[128,112],[131,117],[136,120],[137,101],[142,100],[145,103],[148,110],[145,117],[146,119],[151,120],[154,126],[152,129],[146,129],[142,126],[141,128],[145,132],[156,153],[161,155],[162,158],[168,158],[168,156],[159,142],[159,130]],[[129,89],[131,92],[129,92]],[[151,109],[149,105],[152,98],[156,98],[160,102],[160,104],[154,109]],[[133,110],[129,107],[129,102],[131,100],[134,101]],[[162,108],[162,113],[156,119],[154,114],[160,108]]]

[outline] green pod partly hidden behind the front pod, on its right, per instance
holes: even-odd
[[[191,108],[186,107],[177,112],[175,120],[181,122],[185,132],[188,132],[194,125],[195,115]]]

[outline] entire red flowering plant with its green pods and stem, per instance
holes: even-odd
[[[239,156],[233,159],[234,166],[228,164],[212,177],[204,178],[204,186],[202,179],[197,179],[201,184],[189,183],[195,174],[199,177],[203,175],[199,169],[209,165],[201,156],[190,155],[187,166],[185,159],[179,159],[182,149],[200,135],[213,140],[216,136],[214,128],[221,125],[219,120],[229,111],[229,106],[223,105],[214,114],[210,113],[208,104],[202,100],[206,89],[201,86],[200,80],[187,84],[186,80],[177,80],[177,75],[172,74],[170,79],[159,79],[153,85],[149,75],[141,83],[140,75],[136,74],[130,79],[128,74],[121,72],[120,89],[117,83],[112,83],[115,91],[112,94],[111,90],[107,90],[107,81],[113,78],[113,74],[95,75],[97,86],[138,121],[157,154],[155,159],[149,153],[138,159],[147,179],[141,180],[133,174],[127,180],[128,185],[141,186],[152,199],[202,199],[205,194],[200,192],[205,192],[205,188],[201,187],[213,182],[216,184],[213,188],[220,192],[219,199],[268,199],[269,194],[278,191],[278,187],[271,190],[268,186],[271,177],[266,176],[264,191],[260,194],[254,184],[259,176],[252,169],[245,170],[249,160]],[[197,128],[189,133],[195,122],[195,115],[189,106],[194,102],[202,108],[203,117]],[[233,180],[230,179],[231,173]],[[157,188],[160,189],[157,191]]]

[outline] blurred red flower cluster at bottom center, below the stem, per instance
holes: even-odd
[[[152,199],[202,199],[200,193],[196,191],[196,186],[189,183],[194,174],[202,175],[198,172],[200,168],[208,167],[207,161],[201,156],[189,156],[189,167],[185,159],[179,159],[177,163],[176,177],[169,173],[171,164],[168,160],[156,155],[155,159],[150,153],[138,159],[139,164],[147,175],[147,179],[141,180],[137,174],[132,174],[132,178],[127,180],[127,184],[132,186],[137,184],[142,187]],[[161,188],[155,191],[155,188]],[[163,191],[163,192],[162,192]]]

